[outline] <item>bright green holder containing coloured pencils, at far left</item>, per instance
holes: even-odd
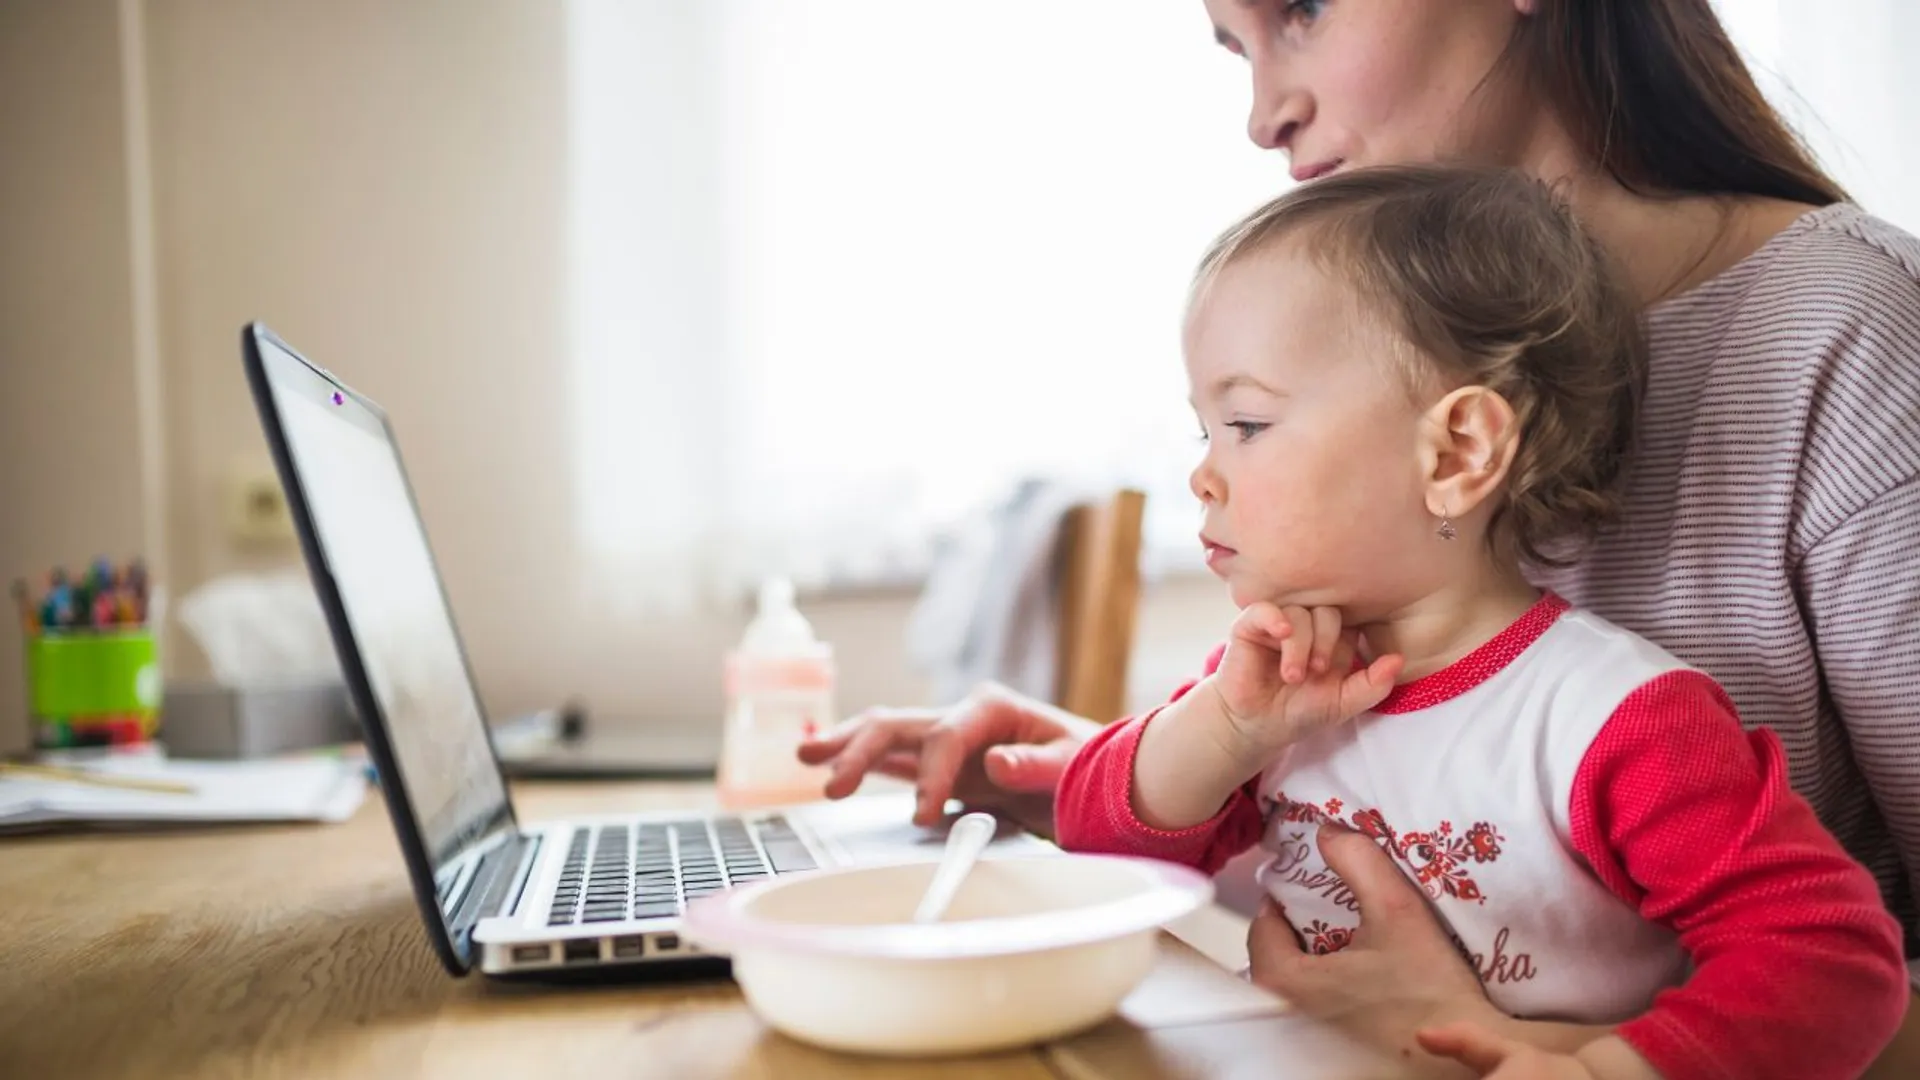
[[[129,744],[159,728],[159,650],[148,630],[65,630],[27,638],[35,746]]]

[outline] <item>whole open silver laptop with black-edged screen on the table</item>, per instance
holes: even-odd
[[[685,903],[780,874],[939,859],[912,796],[520,822],[386,413],[259,323],[242,354],[428,938],[453,974],[722,969]],[[532,632],[532,630],[530,630]],[[1000,855],[1056,849],[1014,826]]]

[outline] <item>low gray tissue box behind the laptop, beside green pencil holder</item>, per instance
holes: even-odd
[[[159,742],[173,757],[265,757],[361,738],[342,682],[169,682]]]

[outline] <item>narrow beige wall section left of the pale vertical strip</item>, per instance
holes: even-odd
[[[148,546],[115,0],[0,4],[0,578]],[[12,601],[8,601],[12,605]],[[0,623],[0,753],[25,744]]]

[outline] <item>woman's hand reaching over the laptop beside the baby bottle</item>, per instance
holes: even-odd
[[[868,709],[803,742],[801,761],[831,765],[831,799],[851,796],[868,773],[912,780],[918,824],[937,824],[958,798],[1052,832],[1060,774],[1098,732],[1092,721],[987,684],[945,709]]]

